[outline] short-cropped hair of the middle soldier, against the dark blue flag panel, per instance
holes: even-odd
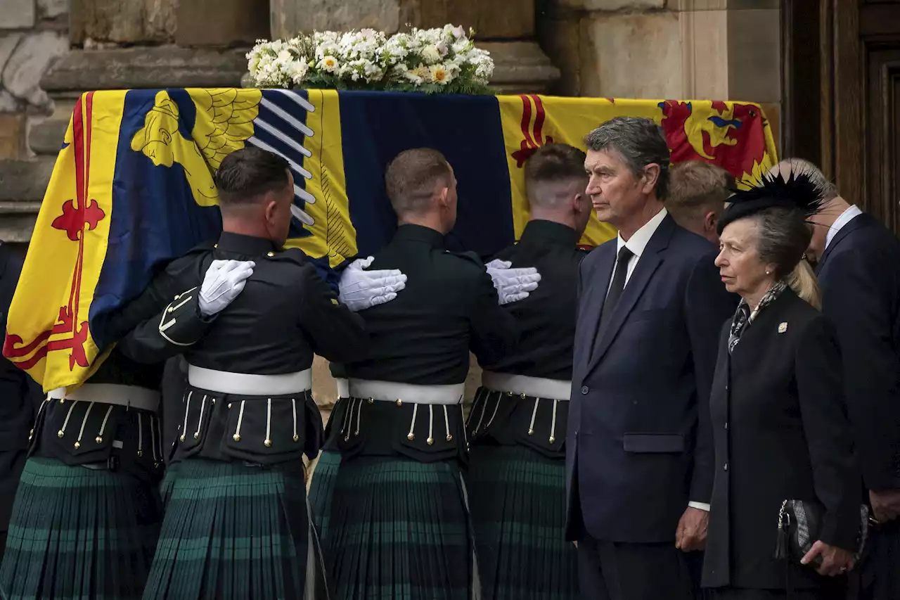
[[[384,186],[397,214],[428,209],[438,185],[450,186],[453,169],[444,155],[430,148],[403,150],[388,165]]]

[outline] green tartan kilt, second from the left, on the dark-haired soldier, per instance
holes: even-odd
[[[172,464],[145,600],[327,600],[303,468],[302,460]]]

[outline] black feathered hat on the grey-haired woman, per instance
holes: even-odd
[[[824,189],[809,177],[808,173],[792,169],[786,179],[782,173],[767,174],[759,185],[750,189],[735,190],[728,198],[731,203],[719,217],[718,233],[728,223],[738,219],[761,213],[769,208],[788,208],[796,210],[808,219],[822,210]]]

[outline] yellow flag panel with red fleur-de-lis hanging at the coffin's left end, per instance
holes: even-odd
[[[45,391],[83,381],[97,355],[87,317],[112,220],[124,99],[124,91],[78,99],[7,316],[15,331],[4,356]]]

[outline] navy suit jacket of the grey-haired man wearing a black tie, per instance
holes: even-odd
[[[712,491],[707,400],[719,328],[736,301],[715,249],[666,216],[598,335],[616,254],[608,241],[581,263],[566,532],[669,542],[688,502]]]

